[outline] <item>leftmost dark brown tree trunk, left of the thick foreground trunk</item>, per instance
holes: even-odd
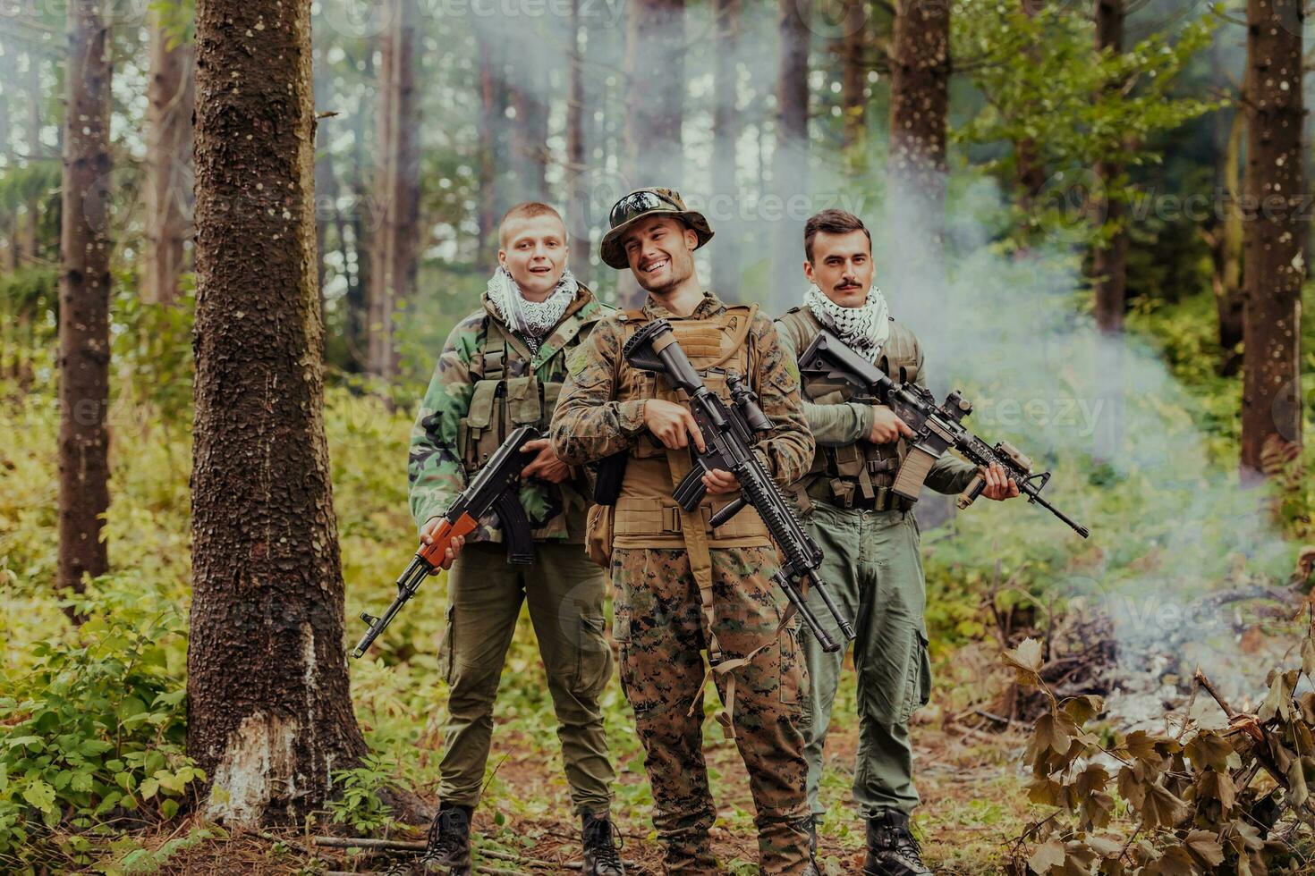
[[[59,276],[59,563],[57,587],[108,569],[109,30],[99,3],[68,7]]]

